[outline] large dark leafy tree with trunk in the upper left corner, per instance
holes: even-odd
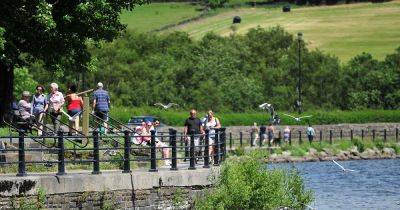
[[[91,68],[88,41],[112,41],[123,9],[145,0],[0,1],[0,117],[13,100],[14,69],[41,61],[53,71]]]

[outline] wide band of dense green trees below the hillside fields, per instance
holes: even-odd
[[[297,98],[299,43],[306,110],[399,108],[400,48],[384,61],[364,53],[341,66],[335,56],[307,49],[281,27],[228,37],[207,34],[200,41],[183,32],[127,33],[92,48],[97,71],[84,78],[92,86],[105,83],[115,105],[175,102],[183,108],[246,111],[268,101],[290,110]],[[41,68],[32,72],[42,83],[76,78]]]

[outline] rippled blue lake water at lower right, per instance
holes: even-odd
[[[325,209],[400,209],[400,159],[337,161],[357,172],[342,172],[331,161],[273,164],[295,166],[312,189],[311,206]]]

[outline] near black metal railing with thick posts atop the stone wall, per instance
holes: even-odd
[[[121,133],[120,133],[121,134]],[[165,135],[167,134],[167,135]],[[144,142],[137,142],[136,138],[148,137],[150,139],[148,146],[143,146]],[[66,136],[62,131],[58,131],[55,136],[28,136],[26,132],[20,130],[18,136],[0,137],[0,139],[13,139],[18,138],[17,148],[4,148],[0,149],[0,154],[6,152],[18,152],[18,161],[0,162],[0,166],[18,164],[17,176],[26,176],[27,164],[57,164],[57,175],[66,174],[66,164],[92,164],[92,174],[100,174],[100,163],[102,162],[119,162],[122,163],[122,172],[131,172],[131,162],[146,162],[150,163],[149,171],[158,171],[158,161],[167,160],[171,161],[170,170],[178,170],[178,160],[189,160],[188,169],[195,170],[196,166],[202,165],[204,168],[210,167],[210,160],[212,164],[218,166],[226,157],[226,134],[225,128],[215,130],[215,133],[210,134],[207,130],[204,135],[192,134],[184,136],[174,129],[169,129],[168,133],[156,133],[151,131],[150,136],[137,136],[130,130],[123,132],[121,135],[110,134],[101,135],[97,130],[92,132],[91,136]],[[92,142],[92,145],[86,143],[85,145],[78,144],[82,138],[87,139],[87,142]],[[53,140],[52,144],[48,144],[48,140]],[[188,140],[186,140],[188,139]],[[26,141],[39,143],[40,148],[25,148]],[[72,144],[72,148],[66,146],[66,142]],[[136,143],[136,144],[133,144]],[[179,145],[178,145],[179,144]],[[111,146],[110,146],[111,145]],[[91,146],[91,147],[89,147]],[[168,150],[171,152],[170,157],[158,157],[157,150]],[[213,150],[210,153],[210,150]],[[46,154],[56,154],[57,160],[48,161],[28,161],[26,155],[29,152],[40,151]],[[91,158],[77,159],[76,152],[87,152]],[[122,157],[120,159],[101,159],[100,153],[107,151],[120,152]],[[66,158],[66,154],[72,152],[75,154],[73,159]],[[132,155],[136,153],[136,155]],[[142,153],[137,155],[137,153]],[[144,155],[143,155],[144,154]],[[200,164],[199,162],[203,162]]]

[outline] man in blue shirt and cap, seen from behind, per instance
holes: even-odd
[[[103,89],[103,83],[97,83],[97,90],[93,92],[94,115],[104,121],[104,133],[107,133],[108,112],[110,111],[110,96]]]

